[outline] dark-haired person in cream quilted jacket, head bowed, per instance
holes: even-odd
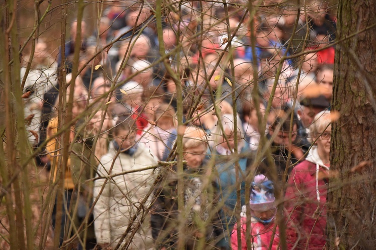
[[[112,133],[114,139],[100,160],[99,178],[94,181],[95,236],[100,247],[115,247],[129,223],[139,222],[141,227],[128,249],[149,249],[152,247],[149,215],[144,215],[144,221],[141,219],[143,214],[138,214],[134,221],[132,218],[140,206],[147,208],[148,193],[154,182],[153,169],[141,169],[155,165],[156,160],[142,143],[136,141],[136,125],[130,116],[119,119]],[[121,174],[131,169],[140,171]],[[109,174],[113,175],[110,181],[105,177]]]

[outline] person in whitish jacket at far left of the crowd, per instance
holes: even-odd
[[[48,45],[42,39],[35,44],[34,56],[26,56],[25,62],[30,63],[30,70],[26,75],[27,64],[21,68],[21,80],[25,81],[24,93],[30,93],[25,100],[25,117],[31,117],[26,129],[29,131],[29,141],[32,145],[38,144],[39,138],[44,141],[45,126],[41,126],[42,112],[44,106],[44,95],[50,89],[58,84],[57,63],[52,55],[48,52]],[[41,130],[42,136],[35,136],[30,132],[35,131],[37,134]],[[40,135],[40,134],[38,134]],[[39,138],[38,138],[39,137]]]

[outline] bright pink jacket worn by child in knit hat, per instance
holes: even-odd
[[[247,224],[246,224],[246,218],[241,218],[241,238],[242,238],[242,250],[247,249],[247,241],[246,241],[246,230],[247,230]],[[255,220],[252,218],[251,220],[251,242],[253,243],[253,247],[251,249],[255,250],[267,250],[269,249],[270,241],[272,240],[273,236],[273,229],[274,229],[275,223],[270,222],[269,224],[264,224],[260,221]],[[231,234],[231,247],[233,250],[238,250],[238,232],[237,232],[237,224],[235,224],[233,232]],[[273,243],[271,249],[277,249],[279,244],[279,230],[278,226],[276,227],[276,231],[273,237]]]

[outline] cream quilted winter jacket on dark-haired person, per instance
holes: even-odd
[[[142,145],[138,144],[131,155],[115,149],[111,141],[107,154],[103,155],[98,172],[103,175],[121,173],[156,164],[154,157]],[[154,182],[153,170],[121,174],[106,181],[106,178],[94,181],[94,227],[99,244],[110,243],[114,247],[123,235],[129,221],[134,216]],[[105,183],[106,182],[106,183]],[[100,193],[102,187],[104,189]],[[148,203],[144,204],[146,208]],[[137,223],[137,221],[135,221]],[[133,237],[128,249],[148,249],[152,240],[148,226],[148,217]]]

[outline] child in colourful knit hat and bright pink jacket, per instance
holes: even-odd
[[[275,226],[275,214],[277,207],[274,197],[274,185],[265,175],[258,174],[252,182],[251,199],[249,202],[251,209],[251,249],[263,250],[277,249],[279,243],[279,230]],[[246,207],[243,207],[241,218],[241,249],[247,249],[246,230],[247,217]],[[238,249],[238,231],[235,224],[231,235],[232,249]]]

